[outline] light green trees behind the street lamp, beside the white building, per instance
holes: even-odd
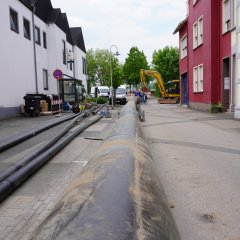
[[[122,84],[122,66],[116,56],[106,49],[96,49],[95,51],[90,49],[87,51],[88,90],[96,84],[111,86],[110,60],[112,62],[113,88]]]

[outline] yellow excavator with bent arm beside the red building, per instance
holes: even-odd
[[[180,80],[172,80],[169,81],[170,87],[165,89],[164,81],[162,76],[159,72],[153,70],[140,70],[140,79],[143,84],[143,88],[147,89],[146,79],[145,76],[154,77],[157,80],[157,85],[162,95],[162,98],[158,99],[158,103],[178,103],[180,100],[180,88],[179,83]]]

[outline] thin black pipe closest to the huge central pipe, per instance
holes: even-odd
[[[51,157],[65,147],[72,139],[84,131],[86,128],[100,120],[102,116],[98,115],[93,120],[79,126],[79,128],[63,139],[59,140],[55,145],[40,154],[34,160],[20,168],[18,171],[11,174],[8,178],[0,183],[0,202],[4,200],[11,192],[13,192],[20,184],[43,166]]]

